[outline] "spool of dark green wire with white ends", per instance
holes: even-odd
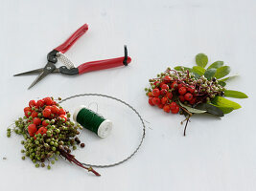
[[[82,127],[94,132],[100,138],[106,138],[112,130],[112,122],[110,120],[87,109],[84,105],[76,109],[73,119],[80,123]]]

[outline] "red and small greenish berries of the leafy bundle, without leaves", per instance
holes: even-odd
[[[146,88],[151,106],[157,106],[165,112],[177,114],[179,102],[193,106],[207,102],[221,95],[223,88],[216,78],[207,80],[203,75],[196,77],[189,71],[175,71],[168,68],[165,73],[150,79],[150,88]]]

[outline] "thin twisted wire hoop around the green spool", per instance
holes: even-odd
[[[68,99],[72,99],[72,98],[75,98],[75,97],[78,97],[78,96],[103,96],[103,97],[107,97],[107,98],[116,100],[118,102],[121,102],[121,103],[125,104],[126,106],[128,106],[128,108],[130,108],[139,117],[139,119],[140,119],[140,121],[142,123],[142,126],[143,126],[143,135],[142,135],[142,138],[140,139],[139,145],[137,146],[137,148],[126,159],[120,160],[120,161],[115,162],[115,163],[106,164],[106,165],[89,164],[89,163],[85,163],[85,162],[82,163],[82,164],[86,165],[86,166],[96,167],[96,168],[108,168],[108,167],[113,167],[113,166],[117,166],[119,164],[122,164],[125,161],[127,161],[128,159],[132,158],[137,153],[139,148],[141,147],[142,142],[143,142],[143,140],[144,140],[144,138],[146,136],[146,126],[145,126],[144,120],[140,116],[140,114],[131,105],[129,105],[127,102],[125,102],[125,101],[123,101],[123,100],[121,100],[119,98],[116,98],[114,96],[106,96],[106,95],[102,95],[102,94],[81,94],[81,95],[69,96],[69,97],[66,97],[66,98],[62,99],[61,101],[59,101],[59,103],[62,103],[64,101],[68,100]]]

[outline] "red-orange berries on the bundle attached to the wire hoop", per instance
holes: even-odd
[[[37,134],[47,133],[47,126],[51,119],[61,119],[66,122],[67,116],[63,108],[59,108],[58,103],[51,97],[45,97],[37,101],[30,100],[29,107],[24,108],[25,117],[28,118],[28,133],[31,137]]]

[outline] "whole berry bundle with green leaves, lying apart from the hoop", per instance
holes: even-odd
[[[223,96],[246,98],[239,91],[226,90],[226,81],[234,76],[224,77],[230,73],[229,66],[223,66],[222,61],[216,61],[208,68],[208,57],[204,53],[196,56],[197,66],[187,68],[177,66],[167,68],[164,73],[149,80],[146,88],[149,104],[162,109],[166,113],[184,115],[186,127],[194,114],[208,113],[223,117],[241,106]]]

